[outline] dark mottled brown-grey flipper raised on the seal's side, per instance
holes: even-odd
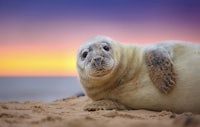
[[[176,74],[170,54],[161,48],[148,50],[145,61],[153,84],[162,93],[169,93],[176,85]]]

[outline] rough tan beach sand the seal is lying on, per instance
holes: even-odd
[[[200,127],[200,114],[169,111],[83,111],[88,97],[53,102],[0,102],[1,127]]]

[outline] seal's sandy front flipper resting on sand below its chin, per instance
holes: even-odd
[[[85,111],[113,110],[113,109],[124,110],[127,108],[124,105],[112,100],[94,101],[91,104],[87,104],[84,107]]]

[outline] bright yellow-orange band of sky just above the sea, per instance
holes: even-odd
[[[75,76],[75,54],[72,49],[46,53],[0,52],[0,76]]]

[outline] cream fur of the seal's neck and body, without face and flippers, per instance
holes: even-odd
[[[107,37],[96,37],[83,44],[107,40],[113,48],[113,70],[99,78],[80,78],[90,98],[116,100],[133,109],[170,110],[200,113],[200,45],[181,41],[165,41],[148,45],[122,44]],[[152,84],[144,60],[144,51],[163,48],[174,64],[176,86],[169,94]],[[80,63],[78,63],[80,64]],[[77,66],[79,77],[87,75]]]

